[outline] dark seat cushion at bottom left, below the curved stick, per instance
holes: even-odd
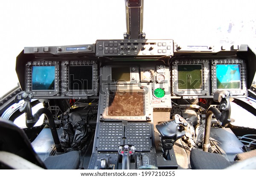
[[[76,170],[80,164],[79,151],[49,156],[44,160],[44,164],[49,170]]]

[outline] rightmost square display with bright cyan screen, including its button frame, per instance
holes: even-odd
[[[229,90],[233,95],[246,96],[246,64],[238,58],[212,60],[212,95]]]

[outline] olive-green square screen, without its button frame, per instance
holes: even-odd
[[[178,89],[202,89],[202,65],[177,65]]]

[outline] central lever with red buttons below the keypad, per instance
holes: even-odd
[[[130,169],[131,155],[135,152],[135,147],[133,145],[120,145],[118,153],[122,155],[122,170]]]

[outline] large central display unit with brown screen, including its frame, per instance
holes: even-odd
[[[151,120],[149,110],[149,89],[127,85],[105,86],[99,108],[101,121],[147,121]]]

